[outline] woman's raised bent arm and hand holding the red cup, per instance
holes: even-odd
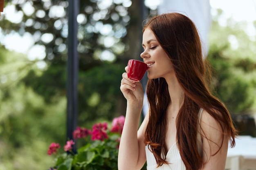
[[[130,81],[126,73],[122,76],[120,89],[127,100],[127,108],[119,145],[118,169],[140,170],[146,161],[144,127],[147,118],[144,119],[138,130],[144,91],[141,83]]]

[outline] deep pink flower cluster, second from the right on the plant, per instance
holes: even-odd
[[[108,139],[108,134],[106,130],[108,129],[107,123],[98,123],[94,124],[92,127],[92,140],[101,140]]]

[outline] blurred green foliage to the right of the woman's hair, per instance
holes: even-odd
[[[213,65],[213,86],[233,114],[256,112],[256,45],[246,24],[213,20],[208,60]],[[234,45],[235,43],[235,45]]]

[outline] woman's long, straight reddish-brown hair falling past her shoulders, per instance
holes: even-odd
[[[211,94],[207,85],[206,61],[202,57],[200,37],[194,23],[185,15],[166,13],[151,18],[143,32],[146,28],[153,31],[170,57],[177,80],[184,90],[184,103],[176,119],[177,146],[186,170],[198,170],[203,166],[196,138],[200,108],[220,122],[223,137],[224,131],[227,132],[232,147],[235,145],[236,129],[229,111]],[[168,151],[165,143],[168,123],[166,110],[171,103],[165,79],[149,79],[146,93],[150,108],[144,143],[150,146],[157,165],[161,166],[163,163],[168,164],[162,156]]]

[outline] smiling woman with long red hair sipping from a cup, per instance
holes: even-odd
[[[236,130],[207,86],[195,25],[179,13],[155,16],[144,26],[142,46],[150,108],[137,130],[144,90],[122,74],[127,109],[119,170],[140,170],[145,161],[148,170],[224,170]]]

